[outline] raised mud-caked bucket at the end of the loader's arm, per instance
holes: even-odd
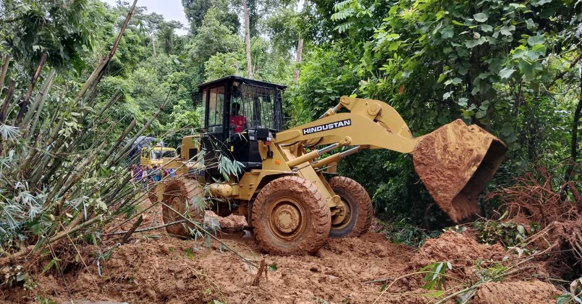
[[[414,169],[437,205],[459,222],[480,213],[478,196],[506,151],[499,138],[457,119],[419,139]]]

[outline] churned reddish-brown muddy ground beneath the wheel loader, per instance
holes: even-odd
[[[77,249],[70,248],[70,256],[62,257],[70,261],[62,265],[62,275],[54,268],[45,274],[38,271],[32,276],[36,288],[0,289],[0,302],[44,298],[57,303],[435,303],[438,299],[422,296],[430,293],[421,288],[424,274],[406,274],[448,260],[453,266],[447,272],[452,278],[446,280],[451,294],[478,280],[475,260],[487,268],[505,256],[500,245],[479,244],[471,234],[452,231],[428,239],[421,248],[393,244],[383,234],[370,232],[359,238],[329,239],[315,256],[270,256],[243,231],[243,217],[218,220],[228,231],[219,233],[228,246],[273,266],[257,286],[251,286],[257,270],[218,242],[207,247],[203,240],[171,237],[162,228],[133,234],[99,266],[95,256],[107,252],[123,235],[104,237],[100,247],[78,248],[83,259],[75,258]],[[146,213],[142,227],[161,223],[161,210],[154,208]],[[130,223],[120,230],[129,227]],[[38,269],[46,263],[38,260]],[[524,266],[528,269],[515,276],[482,285],[473,303],[555,303],[552,296],[560,291],[548,283],[551,274],[544,262]],[[379,279],[388,279],[389,285],[381,297],[383,282],[370,282]]]

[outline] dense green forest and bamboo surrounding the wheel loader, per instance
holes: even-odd
[[[126,187],[126,140],[178,147],[201,129],[197,85],[228,75],[287,85],[286,127],[317,119],[342,95],[389,103],[414,136],[456,119],[477,124],[508,145],[481,200],[485,217],[501,216],[516,184],[548,189],[540,205],[581,202],[582,0],[182,6],[188,24],[139,1],[130,19],[123,1],[0,3],[0,256],[134,214],[119,207],[140,191]],[[338,170],[367,189],[392,241],[419,245],[453,223],[431,208],[412,162],[371,150]],[[97,245],[91,231],[82,238]]]

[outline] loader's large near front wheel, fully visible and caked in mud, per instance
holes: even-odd
[[[313,183],[285,176],[271,181],[253,203],[255,238],[274,255],[305,255],[325,244],[331,227],[329,207]]]

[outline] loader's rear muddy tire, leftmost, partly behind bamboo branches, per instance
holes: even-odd
[[[203,196],[204,189],[194,180],[179,178],[167,181],[164,189],[164,198],[162,199],[162,216],[164,217],[164,223],[168,224],[184,219],[165,205],[172,207],[172,209],[180,212],[180,214],[183,214],[191,220],[203,220],[204,210],[196,209],[196,206],[193,207],[191,202],[192,198],[201,198]],[[190,233],[186,227],[194,228],[194,225],[187,222],[173,224],[171,226],[166,226],[166,231],[168,231],[169,234],[189,237]]]

